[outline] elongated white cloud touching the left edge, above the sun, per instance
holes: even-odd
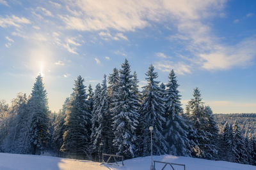
[[[24,17],[16,17],[15,15],[0,17],[0,27],[21,27],[21,24],[31,24],[31,22]]]

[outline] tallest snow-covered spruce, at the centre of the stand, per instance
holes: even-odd
[[[138,97],[134,95],[134,85],[128,60],[125,59],[120,69],[118,95],[113,108],[113,145],[118,148],[117,154],[126,158],[134,157],[136,128],[138,126]]]

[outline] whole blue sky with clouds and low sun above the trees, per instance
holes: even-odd
[[[0,99],[42,73],[58,111],[79,74],[95,87],[125,58],[140,86],[174,69],[184,105],[198,87],[214,113],[255,113],[256,1],[0,0]]]

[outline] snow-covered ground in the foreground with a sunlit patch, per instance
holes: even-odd
[[[154,156],[154,160],[172,162],[177,164],[186,164],[186,170],[191,169],[206,169],[206,170],[221,170],[221,169],[243,169],[250,170],[256,169],[256,166],[249,166],[243,164],[236,164],[225,161],[213,161],[204,159],[195,159],[189,157],[174,157],[171,155]],[[110,166],[101,165],[97,162],[88,160],[74,160],[74,159],[61,159],[58,157],[47,157],[38,155],[19,155],[10,153],[0,153],[0,170],[70,170],[70,169],[110,169],[110,170],[143,170],[149,169],[150,157],[139,157],[136,159],[129,159],[124,161],[125,166]],[[163,165],[161,165],[163,167]],[[157,169],[161,169],[157,166]],[[171,169],[170,167],[166,168]],[[183,169],[183,167],[175,167],[175,169]]]

